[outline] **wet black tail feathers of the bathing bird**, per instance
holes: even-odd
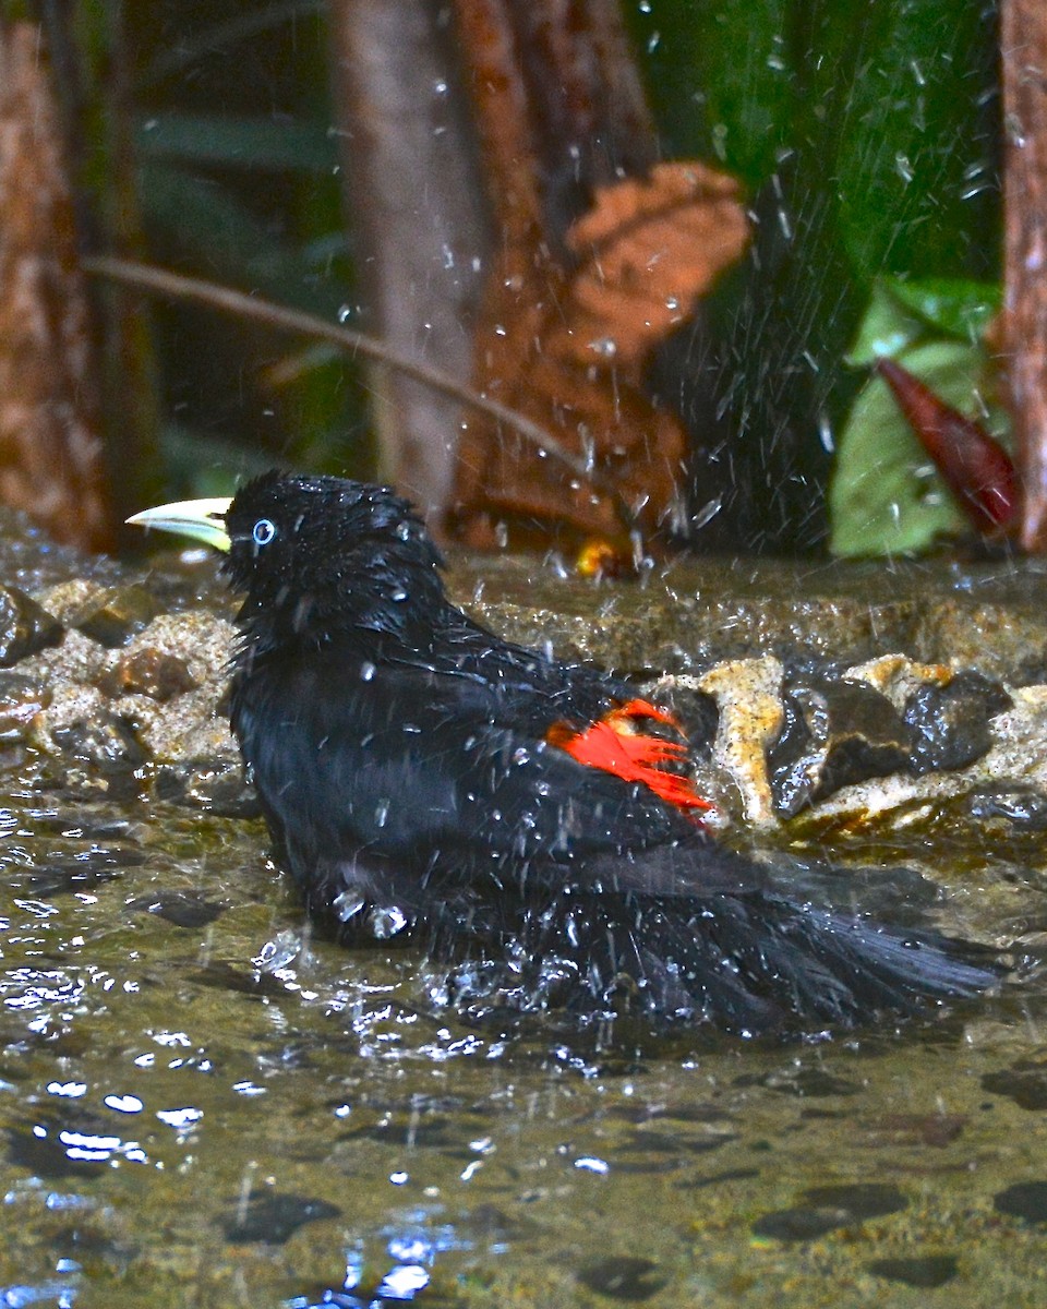
[[[595,1001],[633,996],[654,1017],[734,1031],[856,1026],[976,996],[1000,977],[975,961],[974,949],[945,937],[764,891],[691,902],[686,915],[679,902],[639,898],[597,901],[568,915],[585,922]]]

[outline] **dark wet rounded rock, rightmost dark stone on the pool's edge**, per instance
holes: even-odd
[[[945,686],[919,687],[904,709],[912,771],[966,768],[980,759],[992,746],[991,720],[1013,703],[999,682],[971,670]]]

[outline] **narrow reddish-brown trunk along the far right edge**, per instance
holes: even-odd
[[[1047,5],[1003,0],[1004,334],[1023,507],[1021,543],[1047,552]]]

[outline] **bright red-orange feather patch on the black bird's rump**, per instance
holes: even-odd
[[[690,776],[666,772],[662,764],[681,764],[687,759],[683,741],[666,741],[644,730],[644,723],[661,723],[683,734],[677,719],[647,700],[630,700],[584,732],[569,723],[554,723],[546,733],[550,745],[565,750],[578,763],[612,772],[623,781],[641,781],[656,796],[678,809],[712,809],[695,791]]]

